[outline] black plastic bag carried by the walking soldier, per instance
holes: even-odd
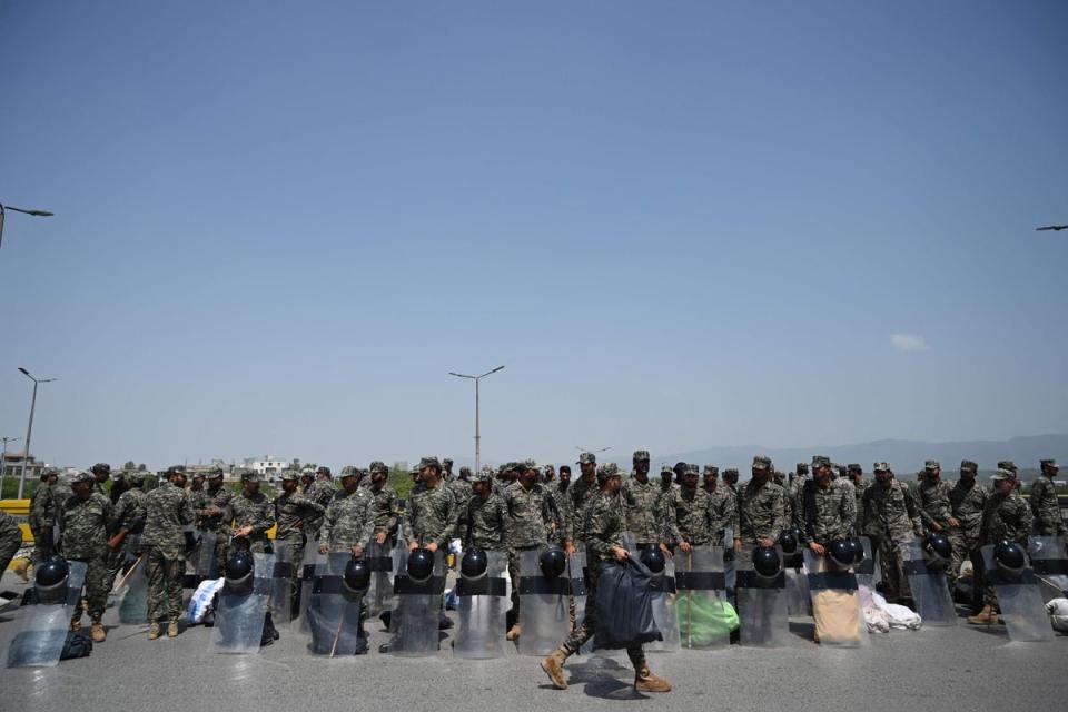
[[[597,625],[593,646],[632,647],[663,640],[653,621],[653,574],[634,558],[604,564],[597,577]]]

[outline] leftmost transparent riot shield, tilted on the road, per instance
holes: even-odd
[[[61,602],[26,606],[21,613],[18,632],[8,647],[8,668],[52,668],[67,642],[70,619],[86,583],[83,562],[68,562],[66,599]]]

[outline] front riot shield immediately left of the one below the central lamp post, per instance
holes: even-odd
[[[406,657],[435,655],[441,640],[445,555],[441,550],[434,552],[434,574],[429,581],[417,583],[407,574],[407,550],[403,554],[393,578],[397,610],[389,620],[389,652]]]

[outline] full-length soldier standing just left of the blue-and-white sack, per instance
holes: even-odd
[[[148,640],[159,637],[167,620],[167,637],[178,635],[181,615],[181,580],[186,573],[185,527],[195,518],[185,491],[186,473],[171,469],[167,479],[145,495],[145,533],[141,545],[148,563]],[[132,491],[131,491],[132,492]],[[130,494],[130,492],[125,493]]]

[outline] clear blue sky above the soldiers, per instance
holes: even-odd
[[[1068,3],[0,2],[0,435],[1068,432]],[[894,336],[897,335],[897,336]]]

